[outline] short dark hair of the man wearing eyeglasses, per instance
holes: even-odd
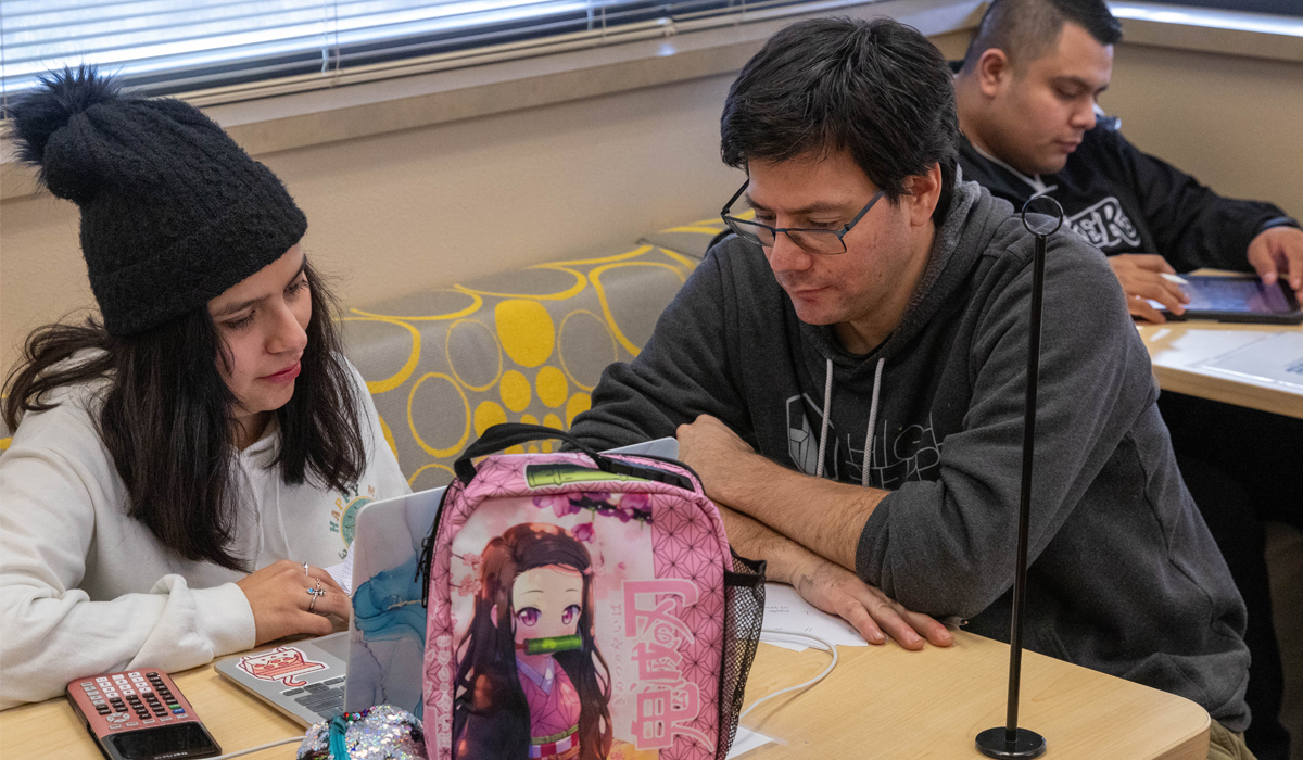
[[[959,123],[950,68],[916,29],[876,18],[794,23],[747,61],[721,117],[726,164],[844,150],[893,203],[941,164],[939,226],[955,188]]]

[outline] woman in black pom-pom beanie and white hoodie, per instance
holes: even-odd
[[[5,382],[0,708],[179,670],[348,617],[345,512],[409,493],[302,211],[198,110],[64,70],[10,107],[81,207],[100,319],[33,332]]]

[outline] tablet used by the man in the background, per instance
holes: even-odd
[[[1303,310],[1294,291],[1282,283],[1264,285],[1257,275],[1183,275],[1181,289],[1190,296],[1186,313],[1177,315],[1164,309],[1169,319],[1216,319],[1218,322],[1256,322],[1265,325],[1298,325]],[[1151,301],[1152,302],[1152,301]],[[1161,306],[1161,305],[1160,305]]]

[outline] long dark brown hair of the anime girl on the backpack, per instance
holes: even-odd
[[[584,645],[552,654],[579,694],[579,760],[602,760],[610,755],[611,675],[593,637],[593,561],[568,531],[543,523],[512,525],[485,548],[474,617],[457,645],[465,652],[453,682],[459,694],[453,708],[453,755],[468,713],[474,713],[491,721],[506,747],[523,747],[520,757],[528,756],[529,704],[516,674],[516,610],[511,589],[521,572],[551,564],[584,574],[584,605],[576,628]],[[511,755],[504,757],[511,760]]]

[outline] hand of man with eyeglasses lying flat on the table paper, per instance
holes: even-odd
[[[886,643],[883,631],[906,649],[923,649],[923,637],[934,647],[955,643],[950,631],[929,615],[904,609],[881,589],[822,557],[810,555],[797,564],[792,585],[809,604],[855,626],[869,644]]]

